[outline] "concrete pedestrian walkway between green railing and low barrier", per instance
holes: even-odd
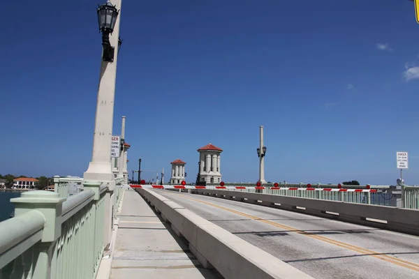
[[[132,188],[125,190],[110,278],[222,278],[203,269],[187,244]]]

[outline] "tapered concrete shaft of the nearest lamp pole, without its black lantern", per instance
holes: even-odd
[[[121,10],[122,0],[112,0],[118,10]],[[115,179],[110,163],[110,142],[112,137],[115,82],[117,77],[118,38],[121,11],[117,17],[115,28],[109,36],[110,44],[115,47],[114,61],[101,61],[101,74],[98,86],[98,99],[96,105],[96,120],[94,124],[93,154],[89,168],[84,172],[84,179],[89,181],[114,181],[110,185],[115,187]],[[100,42],[98,41],[98,44]]]

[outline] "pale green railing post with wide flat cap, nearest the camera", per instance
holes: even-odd
[[[42,239],[34,246],[33,278],[54,278],[54,246],[61,236],[61,213],[65,198],[60,198],[58,193],[49,191],[32,191],[22,193],[21,197],[10,199],[15,204],[15,216],[20,216],[31,210],[40,211],[45,218]]]

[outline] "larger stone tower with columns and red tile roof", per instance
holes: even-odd
[[[206,183],[219,183],[221,182],[221,168],[220,168],[220,154],[223,149],[207,144],[200,149],[200,181]]]

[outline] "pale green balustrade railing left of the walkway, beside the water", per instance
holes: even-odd
[[[10,199],[15,217],[0,223],[0,278],[95,278],[110,243],[110,207],[123,192],[84,182],[71,196],[37,190]]]

